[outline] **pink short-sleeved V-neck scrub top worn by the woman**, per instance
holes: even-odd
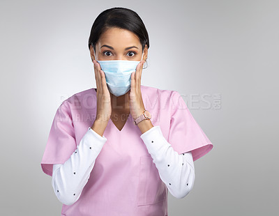
[[[174,151],[192,151],[193,160],[213,145],[199,127],[177,91],[141,86],[144,107]],[[63,164],[96,118],[96,90],[87,89],[64,100],[56,111],[41,167],[52,176],[53,164]],[[112,120],[103,134],[107,138],[80,198],[63,204],[61,215],[167,215],[166,185],[140,138],[142,132],[130,115],[119,131]]]

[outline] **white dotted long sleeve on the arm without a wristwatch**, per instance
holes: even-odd
[[[80,198],[106,141],[106,137],[89,128],[69,159],[53,165],[52,187],[61,203],[69,206]]]

